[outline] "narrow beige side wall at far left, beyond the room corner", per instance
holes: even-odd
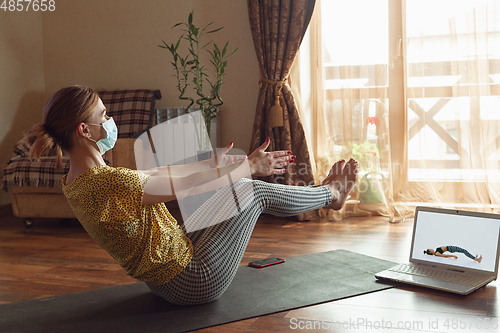
[[[0,10],[0,177],[23,131],[42,120],[42,15]],[[0,190],[0,205],[10,202]]]

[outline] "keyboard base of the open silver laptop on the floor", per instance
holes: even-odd
[[[419,267],[411,264],[401,264],[389,269],[392,272],[409,274],[415,276],[428,277],[435,280],[440,280],[449,283],[461,284],[464,286],[475,286],[484,281],[484,276],[455,273],[442,269],[433,269],[428,267]]]

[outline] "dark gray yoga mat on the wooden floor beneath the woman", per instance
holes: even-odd
[[[345,250],[242,266],[209,304],[182,307],[144,283],[0,305],[0,332],[183,332],[366,294],[391,286],[374,274],[394,263]]]

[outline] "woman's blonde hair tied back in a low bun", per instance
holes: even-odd
[[[22,139],[31,144],[29,157],[39,160],[50,151],[57,156],[57,168],[62,169],[63,151],[73,147],[72,134],[80,123],[88,122],[99,101],[94,89],[72,86],[59,90],[47,101],[43,123],[34,125]]]

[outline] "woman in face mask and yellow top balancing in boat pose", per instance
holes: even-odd
[[[47,149],[55,149],[59,160],[62,151],[69,155],[63,192],[80,223],[127,274],[174,304],[211,302],[226,290],[260,214],[340,209],[358,177],[358,163],[351,159],[335,163],[321,186],[245,178],[247,173],[281,174],[293,162],[291,152],[265,152],[269,139],[248,157],[226,155],[230,144],[211,160],[193,164],[148,171],[113,168],[102,154],[116,137],[117,128],[96,92],[73,86],[50,98],[43,123],[25,139],[33,143],[31,158]],[[229,176],[233,182],[228,185]],[[214,191],[184,221],[194,230],[189,233],[164,205],[186,191]]]

